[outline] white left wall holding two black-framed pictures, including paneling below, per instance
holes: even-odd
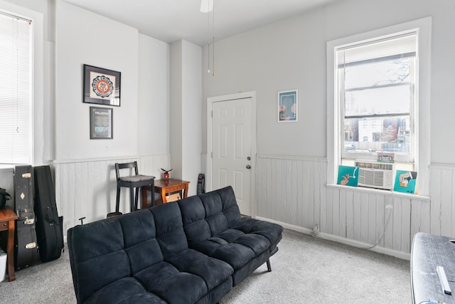
[[[140,173],[156,177],[160,167],[170,165],[169,46],[60,0],[11,2],[0,0],[0,9],[21,14],[23,10],[14,7],[24,6],[43,19],[37,60],[41,76],[34,83],[41,95],[33,109],[39,130],[34,142],[39,157],[34,164],[53,162],[66,234],[80,217],[94,221],[114,210],[115,162],[137,160]],[[122,105],[112,107],[113,140],[90,140],[92,104],[82,103],[84,63],[122,72]],[[14,194],[13,172],[0,170],[0,187],[10,194]],[[128,210],[127,200],[127,191],[122,191],[121,211]]]

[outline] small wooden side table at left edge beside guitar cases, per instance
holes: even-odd
[[[6,263],[10,282],[16,280],[16,276],[14,276],[14,230],[16,229],[16,219],[16,214],[10,208],[0,209],[0,231],[8,231]]]

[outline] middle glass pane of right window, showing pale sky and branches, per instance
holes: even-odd
[[[410,113],[410,85],[350,90],[345,94],[345,116]]]

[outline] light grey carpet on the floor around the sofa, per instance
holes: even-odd
[[[409,261],[294,231],[270,261],[220,303],[411,303]],[[76,303],[68,250],[1,282],[0,303]]]

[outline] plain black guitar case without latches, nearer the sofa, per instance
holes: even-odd
[[[60,258],[63,249],[63,216],[58,216],[49,166],[35,167],[35,213],[41,261]]]

